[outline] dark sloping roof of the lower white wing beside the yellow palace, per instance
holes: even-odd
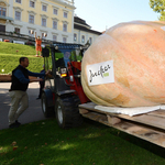
[[[87,24],[85,20],[82,20],[78,16],[74,16],[74,29],[94,33],[94,34],[98,34],[98,35],[102,34],[101,32],[91,30],[91,26],[89,24]]]

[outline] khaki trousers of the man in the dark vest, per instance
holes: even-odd
[[[14,123],[15,120],[24,112],[29,107],[29,97],[26,91],[12,90],[9,92],[11,97],[11,107],[9,110],[9,125]],[[19,107],[20,106],[20,107]]]

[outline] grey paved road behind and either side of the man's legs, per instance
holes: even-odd
[[[0,82],[0,130],[9,128],[8,112],[11,99],[8,91],[10,85],[10,82]],[[22,124],[46,119],[42,112],[41,100],[36,100],[38,88],[38,82],[32,82],[29,86],[29,108],[19,118]]]

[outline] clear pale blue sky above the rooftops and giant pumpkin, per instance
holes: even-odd
[[[96,31],[105,31],[121,22],[157,21],[150,0],[75,0],[75,14]]]

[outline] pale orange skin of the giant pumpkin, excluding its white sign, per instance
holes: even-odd
[[[102,106],[148,107],[165,103],[164,22],[121,23],[86,51],[81,84],[87,97]],[[88,86],[87,65],[113,61],[114,82]]]

